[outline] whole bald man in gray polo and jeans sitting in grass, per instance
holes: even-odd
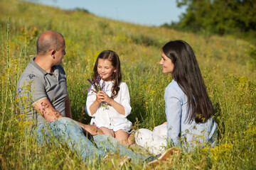
[[[36,42],[37,55],[33,57],[17,84],[18,103],[26,120],[32,122],[39,144],[65,142],[82,160],[102,158],[106,151],[131,157],[142,163],[154,159],[136,154],[94,125],[85,125],[72,120],[66,77],[60,65],[65,53],[63,35],[53,30],[43,32]],[[93,136],[95,145],[85,137]],[[51,138],[52,137],[52,138]]]

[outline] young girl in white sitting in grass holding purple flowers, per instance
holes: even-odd
[[[131,113],[129,90],[127,84],[122,82],[122,74],[119,57],[116,52],[105,50],[100,53],[93,69],[93,78],[98,74],[105,81],[102,91],[89,91],[85,111],[92,117],[91,125],[96,125],[105,135],[115,137],[120,143],[132,145],[129,140],[129,130],[132,123],[127,120]],[[90,89],[94,89],[91,85]],[[107,104],[103,107],[102,104]]]

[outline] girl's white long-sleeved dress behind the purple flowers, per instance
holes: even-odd
[[[100,84],[102,84],[102,82],[103,81],[101,80]],[[112,81],[105,81],[105,87],[102,91],[104,91],[108,96],[111,96],[112,94],[112,85]],[[93,87],[91,85],[90,89],[92,88]],[[132,111],[130,106],[129,89],[127,84],[122,81],[119,84],[119,88],[119,92],[114,98],[114,101],[124,106],[125,115],[121,115],[110,105],[107,105],[107,108],[99,106],[96,113],[92,115],[89,108],[96,100],[96,94],[93,91],[88,91],[85,111],[92,117],[90,121],[91,125],[96,125],[97,128],[109,128],[114,132],[117,130],[124,130],[125,132],[129,132],[129,130],[131,130],[132,123],[127,119],[127,115],[129,115]]]

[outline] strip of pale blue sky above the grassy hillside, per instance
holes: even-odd
[[[27,0],[64,9],[84,8],[95,16],[146,26],[179,21],[185,7],[176,0]]]

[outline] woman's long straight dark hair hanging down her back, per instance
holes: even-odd
[[[186,120],[205,122],[213,115],[214,108],[191,46],[183,40],[174,40],[167,42],[162,50],[174,63],[172,76],[188,97]]]

